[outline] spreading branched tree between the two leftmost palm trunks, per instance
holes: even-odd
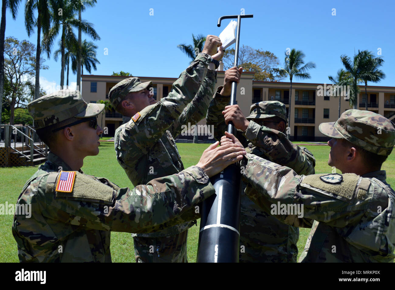
[[[6,38],[4,43],[4,54],[6,55],[4,74],[8,78],[11,87],[11,96],[8,98],[10,104],[9,123],[11,125],[14,124],[15,108],[28,101],[26,89],[29,88],[26,88],[26,84],[30,83],[30,79],[36,70],[35,50],[36,47],[34,47],[33,43],[26,40],[19,41],[13,37]],[[46,69],[47,67],[43,66],[42,62],[44,62],[44,59],[40,58],[39,67]],[[36,93],[36,88],[34,93]]]

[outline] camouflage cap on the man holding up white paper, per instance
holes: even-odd
[[[144,90],[149,86],[152,86],[152,81],[141,83],[138,77],[129,77],[112,87],[108,93],[108,98],[110,99],[111,104],[116,108],[127,94],[130,92]]]

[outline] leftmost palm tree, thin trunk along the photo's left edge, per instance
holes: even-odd
[[[20,0],[2,0],[1,24],[0,24],[0,124],[3,109],[4,94],[4,39],[6,36],[6,12],[7,8],[11,11],[12,19],[16,19]]]

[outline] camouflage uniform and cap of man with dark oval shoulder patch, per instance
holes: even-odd
[[[395,143],[393,123],[370,111],[347,110],[319,128],[378,155],[389,155]],[[247,160],[248,197],[286,224],[312,227],[299,262],[393,261],[395,192],[386,171],[304,176],[252,154]],[[279,212],[279,203],[289,211]],[[298,206],[299,217],[291,211]]]

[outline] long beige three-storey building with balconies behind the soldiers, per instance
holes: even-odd
[[[252,81],[253,73],[244,72],[237,86],[237,104],[247,117],[253,103],[267,100],[278,100],[287,107],[291,105],[290,136],[297,141],[326,141],[327,137],[318,130],[322,122],[334,122],[339,115],[339,97],[324,96],[324,83],[292,83],[292,98],[289,100],[289,82]],[[82,75],[82,96],[84,100],[96,103],[108,100],[110,89],[126,77],[110,75]],[[139,77],[142,82],[152,81],[154,84],[154,98],[160,100],[171,91],[171,85],[176,78],[169,77]],[[224,72],[218,71],[216,86],[224,83]],[[329,85],[329,84],[327,84]],[[365,109],[365,87],[359,87],[359,109]],[[327,88],[328,90],[328,88]],[[338,92],[339,94],[339,92]],[[344,92],[344,95],[346,92]],[[395,87],[368,86],[368,110],[379,113],[395,121]],[[291,103],[291,104],[290,104]],[[340,113],[350,109],[348,100],[340,96]],[[107,127],[105,136],[114,136],[115,129],[122,124],[122,115],[107,110],[98,117],[101,127]],[[199,124],[205,124],[205,119]],[[179,136],[180,139],[192,139],[193,136]],[[207,139],[207,136],[199,136]]]

